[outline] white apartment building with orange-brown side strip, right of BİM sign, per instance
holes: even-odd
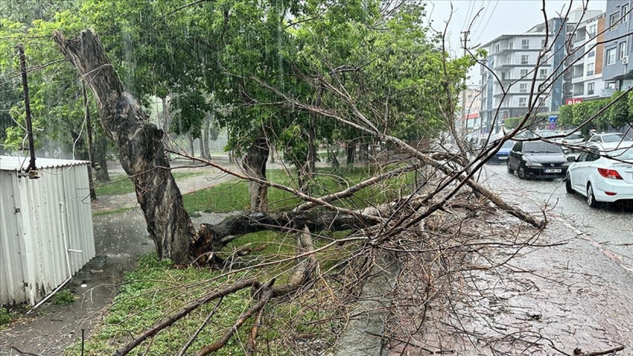
[[[605,89],[603,63],[605,56],[605,13],[579,23],[572,37],[573,49],[568,58],[568,79],[573,99],[591,100],[611,96],[615,89]]]

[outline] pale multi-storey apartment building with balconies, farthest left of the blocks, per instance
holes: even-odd
[[[487,50],[488,58],[481,68],[480,132],[499,132],[506,118],[525,115],[535,75],[535,92],[546,80],[553,80],[548,83],[551,84],[549,91],[539,98],[537,112],[558,111],[573,95],[572,85],[563,75],[568,64],[567,34],[573,32],[583,18],[601,13],[588,10],[583,15],[582,9],[577,9],[570,11],[567,18],[551,18],[547,24],[540,23],[523,34],[500,35],[483,44],[481,47]],[[535,68],[546,44],[549,51],[545,60]]]

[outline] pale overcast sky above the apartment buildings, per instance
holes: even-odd
[[[585,0],[589,10],[606,9],[606,0]],[[582,6],[582,0],[571,1],[572,10]],[[477,11],[481,10],[471,27],[469,46],[486,43],[503,34],[520,34],[543,22],[541,0],[430,0],[427,4],[427,18],[435,30],[443,30],[451,15],[448,26],[449,41],[447,43],[451,55],[461,54],[460,33],[468,29]],[[546,0],[548,17],[557,12],[567,11],[570,0]],[[472,77],[470,82],[477,83]]]

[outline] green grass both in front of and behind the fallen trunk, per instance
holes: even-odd
[[[345,189],[348,185],[359,182],[375,174],[373,168],[353,168],[351,170],[319,169],[318,177],[313,188],[314,196],[321,196],[333,191]],[[294,178],[288,177],[283,170],[269,170],[268,179],[296,188]],[[337,202],[348,208],[363,207],[367,204],[382,203],[390,199],[403,186],[410,186],[413,175],[403,175],[391,179],[377,187],[364,189],[352,198]],[[291,208],[300,203],[292,193],[280,189],[269,188],[268,199],[273,209]],[[184,204],[190,213],[231,212],[244,210],[249,205],[248,185],[246,182],[225,182],[208,189],[203,189],[184,196]],[[348,235],[346,231],[334,233],[322,232],[323,238],[316,238],[316,247],[325,246],[331,238],[339,239]],[[283,258],[291,258],[296,253],[295,236],[293,234],[270,231],[246,234],[234,239],[223,251],[218,253],[222,258],[232,262],[234,269],[251,266],[261,262],[270,262]],[[318,255],[321,270],[332,267],[341,257],[353,249],[353,244],[332,246],[327,252]],[[245,255],[244,251],[248,251]],[[257,277],[260,281],[276,278],[277,284],[288,281],[289,269],[296,263],[294,259],[284,265],[270,266],[265,270],[253,269],[249,277]],[[120,288],[115,302],[108,309],[103,321],[97,326],[94,335],[85,344],[85,355],[108,355],[116,348],[131,340],[132,336],[153,325],[166,315],[173,314],[187,302],[209,291],[220,288],[223,283],[230,283],[242,277],[242,274],[232,275],[231,281],[227,277],[186,287],[187,284],[209,281],[217,277],[220,272],[207,268],[176,269],[168,260],[159,261],[154,255],[139,258],[137,267],[125,276],[126,283]],[[321,283],[320,280],[316,283]],[[332,281],[329,281],[332,284]],[[327,286],[325,290],[329,289]],[[321,293],[323,289],[313,288],[292,300],[275,300],[265,309],[264,324],[260,329],[260,345],[266,345],[265,353],[272,355],[292,355],[298,350],[291,345],[280,343],[287,340],[289,334],[318,334],[325,340],[332,342],[342,323],[335,318],[334,306],[328,303],[328,298],[334,298],[329,293]],[[215,303],[209,303],[192,312],[187,317],[176,322],[172,327],[161,331],[152,341],[146,341],[136,348],[130,355],[174,355],[179,352],[189,336],[197,329]],[[248,290],[234,293],[222,301],[213,321],[204,329],[190,348],[194,353],[202,346],[216,341],[227,327],[232,326],[235,318],[242,314],[252,300]],[[249,322],[239,331],[237,336],[229,341],[227,346],[215,355],[243,355],[244,346],[248,340]],[[264,347],[264,346],[260,346]],[[68,355],[79,355],[79,345],[73,345],[66,351]],[[260,349],[261,350],[261,349]],[[269,351],[270,350],[270,351]]]

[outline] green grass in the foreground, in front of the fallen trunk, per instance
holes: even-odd
[[[261,252],[264,253],[264,252]],[[264,253],[265,254],[265,253]],[[118,346],[130,340],[131,336],[138,335],[147,327],[159,321],[165,315],[173,314],[175,310],[182,308],[190,300],[208,293],[214,288],[219,288],[223,283],[235,281],[241,277],[232,276],[200,284],[194,287],[185,287],[186,284],[208,281],[217,277],[220,272],[206,268],[175,269],[168,260],[159,261],[155,255],[144,255],[139,258],[137,267],[125,276],[125,284],[120,288],[113,305],[108,309],[103,322],[96,327],[94,334],[85,343],[85,355],[110,355]],[[263,277],[262,277],[263,278]],[[197,340],[189,349],[192,354],[204,345],[216,341],[218,337],[252,304],[249,289],[244,289],[222,300],[212,321],[199,334]],[[301,301],[306,303],[305,300]],[[189,336],[204,321],[206,315],[214,307],[215,303],[208,303],[187,317],[180,319],[171,327],[158,333],[152,341],[145,341],[130,355],[175,355],[179,352]],[[264,324],[260,329],[258,340],[268,340],[267,350],[273,355],[289,355],[291,352],[284,350],[284,345],[279,345],[275,340],[280,340],[282,334],[289,330],[287,325],[291,322],[298,323],[295,333],[321,333],[327,334],[332,325],[312,325],[309,321],[315,318],[327,319],[332,314],[330,311],[311,310],[305,312],[299,301],[270,303],[266,313],[281,315],[279,318],[264,318]],[[326,314],[327,313],[327,314]],[[250,327],[246,322],[244,327],[232,338],[227,346],[220,349],[214,355],[242,355],[244,346],[248,340]],[[80,355],[80,344],[70,346],[66,355]]]

